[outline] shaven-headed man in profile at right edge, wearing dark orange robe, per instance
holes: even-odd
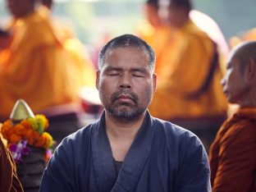
[[[256,191],[256,41],[239,44],[226,63],[223,90],[240,105],[211,145],[213,192]]]

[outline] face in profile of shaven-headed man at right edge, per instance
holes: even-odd
[[[242,64],[234,53],[227,60],[226,75],[222,79],[222,87],[230,103],[240,104],[249,89],[245,84],[245,75],[240,71],[240,65]]]

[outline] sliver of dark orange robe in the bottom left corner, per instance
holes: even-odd
[[[1,129],[1,127],[0,127]],[[0,191],[22,192],[21,182],[16,174],[16,164],[10,151],[2,142],[0,133]]]

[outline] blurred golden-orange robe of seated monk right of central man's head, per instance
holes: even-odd
[[[192,21],[179,30],[170,28],[167,38],[157,57],[157,90],[149,106],[151,114],[165,120],[225,115],[227,102],[220,84],[220,66],[208,89],[190,97],[208,78],[215,51],[213,41]]]

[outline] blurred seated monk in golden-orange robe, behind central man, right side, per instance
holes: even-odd
[[[217,45],[190,20],[190,0],[159,3],[169,33],[158,54],[158,87],[149,110],[192,130],[208,149],[227,110]]]

